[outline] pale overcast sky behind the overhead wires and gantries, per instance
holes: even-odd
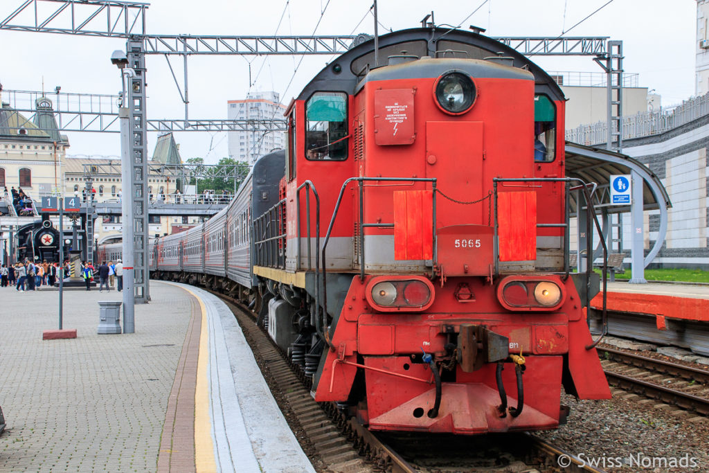
[[[385,33],[384,28],[420,26],[433,10],[437,24],[475,25],[486,28],[486,35],[556,37],[607,1],[379,0],[379,33]],[[0,0],[0,21],[22,3]],[[370,6],[372,0],[154,0],[147,10],[147,33],[312,35],[320,21],[317,35],[372,34]],[[61,21],[52,24],[62,26]],[[694,93],[695,0],[614,0],[566,35],[623,40],[625,71],[640,74],[640,87],[655,89],[663,105],[679,103]],[[125,40],[0,30],[0,45],[0,83],[5,90],[41,90],[43,81],[46,91],[57,85],[62,92],[75,93],[116,94],[121,89],[118,69],[109,59],[113,50],[125,50]],[[190,118],[226,118],[226,102],[242,99],[250,90],[277,91],[287,104],[331,59],[304,57],[294,74],[301,57],[190,57]],[[535,61],[549,71],[601,71],[591,57],[536,57]],[[182,84],[182,60],[176,58],[172,64]],[[257,77],[251,88],[249,64],[252,78]],[[164,57],[147,57],[147,83],[149,118],[184,117],[184,104]],[[120,155],[115,133],[68,135],[69,155]],[[157,134],[149,134],[151,154],[156,138]],[[216,162],[228,154],[226,133],[179,133],[176,139],[183,159],[199,156]]]

